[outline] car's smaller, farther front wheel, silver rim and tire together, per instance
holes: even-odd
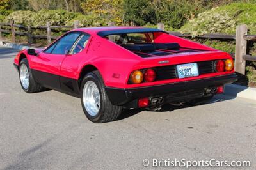
[[[35,93],[42,90],[42,86],[35,81],[26,58],[20,61],[19,76],[20,85],[25,92]]]

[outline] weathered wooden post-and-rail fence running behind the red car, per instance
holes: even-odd
[[[115,23],[109,22],[108,26],[113,26]],[[10,27],[9,29],[3,29],[3,27]],[[12,35],[12,42],[15,43],[15,35],[27,36],[28,43],[32,43],[33,39],[47,39],[47,43],[50,44],[51,40],[55,40],[58,36],[52,36],[52,29],[76,29],[79,27],[79,22],[74,21],[74,26],[50,26],[47,22],[46,26],[23,26],[15,24],[12,20],[10,23],[0,23],[0,40],[2,40],[2,33],[7,33]],[[164,30],[164,24],[157,24],[158,29]],[[15,31],[15,28],[23,29],[23,32]],[[45,30],[45,35],[33,35],[31,34],[32,29],[42,29]],[[191,38],[190,34],[182,34],[179,32],[169,31],[171,35],[180,36],[184,38]],[[196,36],[196,38],[209,38],[209,39],[219,39],[219,40],[236,40],[236,52],[235,52],[235,70],[238,73],[245,74],[246,61],[256,61],[256,56],[250,56],[247,54],[247,41],[256,41],[256,35],[248,35],[248,28],[246,25],[237,26],[236,35],[224,35],[224,34],[205,34],[202,36]]]

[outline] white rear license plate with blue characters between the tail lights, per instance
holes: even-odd
[[[177,73],[178,73],[179,79],[198,76],[199,73],[198,73],[197,63],[177,65]]]

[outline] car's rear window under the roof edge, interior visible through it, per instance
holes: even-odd
[[[125,33],[106,36],[111,42],[118,44],[153,43],[153,33]]]

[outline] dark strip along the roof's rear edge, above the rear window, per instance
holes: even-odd
[[[141,28],[135,28],[135,29],[114,29],[114,30],[108,30],[108,31],[99,31],[97,35],[104,37],[108,35],[118,35],[118,34],[125,34],[125,33],[154,33],[154,32],[167,33],[166,31],[163,31],[160,29],[141,27]]]

